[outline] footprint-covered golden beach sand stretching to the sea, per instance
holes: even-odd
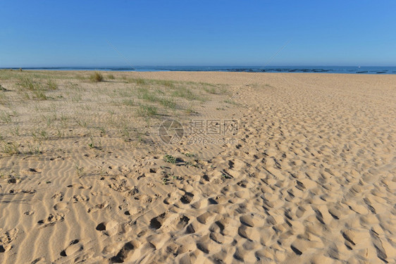
[[[25,144],[32,120],[54,109],[54,122],[69,112],[88,122],[66,123],[63,137],[49,125],[37,153],[0,154],[0,263],[395,263],[396,75],[64,74],[73,80],[56,80],[44,101],[18,101],[18,80],[0,82],[1,111],[18,112],[1,122],[6,143]],[[136,132],[123,140],[124,108],[98,92],[139,87],[123,75],[226,91],[180,101],[189,114],[120,112]],[[112,132],[87,132],[109,113]],[[163,144],[170,118],[237,120],[238,130],[226,144]]]

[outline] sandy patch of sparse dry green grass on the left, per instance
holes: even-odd
[[[161,117],[190,118],[210,99],[211,84],[132,78],[112,74],[106,86],[99,72],[0,70],[0,156],[54,151],[54,140],[86,140],[95,151],[101,137],[145,142],[147,128]],[[114,77],[114,78],[113,78]],[[33,101],[34,100],[34,101]],[[93,141],[91,139],[94,139]]]

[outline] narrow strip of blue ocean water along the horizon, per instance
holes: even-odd
[[[13,68],[18,69],[18,68]],[[65,67],[22,68],[23,70],[105,70],[105,71],[203,71],[246,73],[349,73],[349,74],[396,74],[396,67],[378,66],[136,66],[132,67]]]

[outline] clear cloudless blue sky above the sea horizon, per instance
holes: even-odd
[[[396,1],[0,2],[0,67],[396,65]]]

